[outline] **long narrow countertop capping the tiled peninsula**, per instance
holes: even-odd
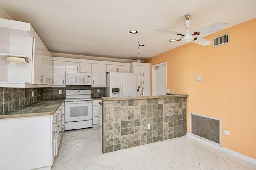
[[[159,96],[131,96],[131,97],[102,97],[102,100],[137,100],[137,99],[157,99],[157,98],[184,98],[188,94],[167,94]]]

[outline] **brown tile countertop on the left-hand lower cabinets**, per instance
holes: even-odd
[[[53,115],[65,99],[41,100],[1,114],[0,119]]]

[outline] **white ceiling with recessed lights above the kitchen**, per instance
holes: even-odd
[[[134,60],[138,39],[145,44],[141,60],[184,45],[168,42],[180,36],[156,29],[184,33],[185,14],[191,15],[190,32],[256,18],[256,0],[0,0],[0,6],[14,20],[31,23],[50,52]]]

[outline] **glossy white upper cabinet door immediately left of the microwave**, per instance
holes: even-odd
[[[66,77],[66,62],[65,61],[53,61],[53,85],[65,85]]]

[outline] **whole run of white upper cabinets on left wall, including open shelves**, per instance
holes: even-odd
[[[0,18],[0,86],[26,87],[27,84],[42,84],[42,55],[47,55],[48,85],[52,81],[51,54],[46,49],[30,23]],[[28,62],[8,61],[19,57]],[[50,70],[49,70],[50,68]]]

